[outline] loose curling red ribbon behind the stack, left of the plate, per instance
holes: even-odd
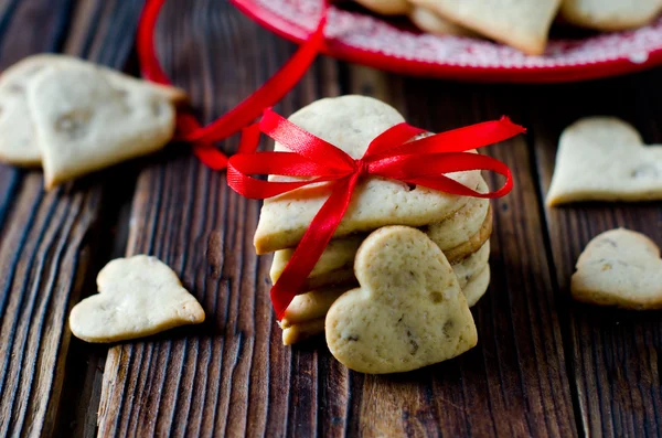
[[[159,64],[153,41],[163,2],[164,0],[147,0],[138,25],[137,51],[142,77],[157,84],[171,85]],[[225,169],[227,157],[216,149],[213,142],[223,140],[253,122],[265,108],[276,105],[301,79],[324,46],[327,12],[328,2],[324,0],[317,30],[308,41],[269,81],[231,111],[205,127],[200,126],[191,114],[180,113],[177,120],[178,139],[193,142],[193,152],[207,167],[213,170]],[[250,145],[250,148],[257,146]],[[241,150],[241,152],[247,151],[249,150]]]

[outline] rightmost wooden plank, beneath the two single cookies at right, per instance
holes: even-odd
[[[532,124],[542,191],[547,192],[562,130],[580,117],[610,115],[662,141],[655,86],[660,71],[626,78],[542,88]],[[535,105],[534,105],[535,104]],[[624,226],[662,245],[662,206],[656,203],[579,203],[546,209],[554,279],[567,307],[568,362],[583,428],[588,436],[660,436],[662,430],[662,320],[659,312],[629,312],[575,303],[569,280],[577,257],[597,234]]]

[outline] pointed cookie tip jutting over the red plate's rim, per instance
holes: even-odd
[[[542,55],[560,0],[412,0],[447,20],[482,35],[512,45],[531,55]]]

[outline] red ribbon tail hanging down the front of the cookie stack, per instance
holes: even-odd
[[[339,180],[333,192],[317,213],[285,270],[271,288],[271,303],[280,321],[288,306],[302,292],[303,282],[317,265],[346,212],[357,174]]]

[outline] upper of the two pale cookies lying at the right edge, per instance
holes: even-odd
[[[612,117],[591,117],[560,136],[547,204],[662,200],[662,146]]]

